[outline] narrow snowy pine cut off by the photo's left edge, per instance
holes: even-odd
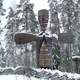
[[[3,0],[0,0],[0,37],[2,37],[3,34],[3,28],[2,28],[2,17],[5,15],[5,9],[3,9]],[[2,38],[0,38],[0,67],[5,67],[5,51],[2,46]]]

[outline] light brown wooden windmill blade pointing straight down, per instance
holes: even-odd
[[[51,57],[48,52],[48,46],[45,42],[42,43],[40,48],[40,55],[39,55],[39,66],[47,68],[51,64]]]

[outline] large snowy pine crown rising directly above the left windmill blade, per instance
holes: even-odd
[[[19,24],[19,27],[22,27],[21,31],[25,30],[25,32],[38,32],[37,21],[33,12],[33,4],[24,1],[24,4],[20,4],[18,5],[18,7],[19,8],[17,8],[17,16],[19,17],[21,22]]]

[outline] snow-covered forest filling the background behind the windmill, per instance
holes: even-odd
[[[6,14],[3,2],[0,0],[0,67],[37,68],[36,42],[16,44],[14,39],[16,33],[41,32],[35,5],[30,0],[20,0],[16,9],[9,7]],[[48,4],[47,32],[52,35],[53,69],[80,73],[80,0],[48,0]],[[4,18],[6,24],[2,24]]]

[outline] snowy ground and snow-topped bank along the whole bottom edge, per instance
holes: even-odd
[[[36,68],[0,68],[0,80],[80,80],[80,74]]]

